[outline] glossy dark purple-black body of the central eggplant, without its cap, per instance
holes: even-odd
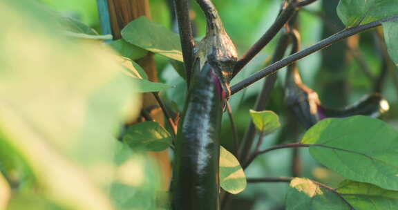
[[[220,209],[220,84],[207,62],[193,74],[176,138],[172,206],[175,210]]]

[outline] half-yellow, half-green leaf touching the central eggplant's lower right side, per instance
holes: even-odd
[[[225,191],[237,194],[246,188],[246,175],[238,159],[220,147],[220,185]]]

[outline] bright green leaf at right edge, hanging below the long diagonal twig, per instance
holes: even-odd
[[[388,54],[390,54],[395,65],[398,66],[398,19],[383,22],[383,32]]]

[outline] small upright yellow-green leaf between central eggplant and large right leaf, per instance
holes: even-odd
[[[254,111],[250,110],[250,116],[252,117],[254,125],[258,131],[265,134],[272,133],[281,126],[279,117],[273,111]]]

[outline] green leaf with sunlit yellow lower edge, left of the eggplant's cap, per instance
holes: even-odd
[[[161,25],[149,21],[144,16],[131,21],[129,25],[123,28],[122,37],[135,46],[182,61],[178,35]]]

